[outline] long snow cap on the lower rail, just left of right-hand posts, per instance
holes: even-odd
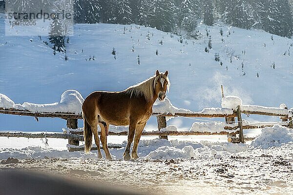
[[[190,128],[190,131],[194,132],[210,132],[210,133],[220,133],[222,131],[227,132],[235,132],[237,130],[225,130],[224,127],[228,126],[229,124],[226,124],[224,122],[194,122]],[[233,125],[229,125],[233,126]]]

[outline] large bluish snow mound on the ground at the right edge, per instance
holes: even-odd
[[[251,148],[268,149],[273,146],[281,146],[284,143],[293,141],[293,130],[281,125],[265,127],[261,135],[251,142]]]

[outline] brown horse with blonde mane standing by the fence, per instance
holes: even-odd
[[[137,159],[137,146],[146,121],[152,114],[152,106],[157,98],[163,101],[169,89],[168,71],[155,75],[137,85],[121,92],[96,91],[85,98],[83,103],[84,118],[84,151],[88,153],[92,146],[92,134],[98,148],[98,158],[102,158],[98,125],[101,127],[101,141],[107,159],[112,159],[108,146],[107,135],[109,125],[129,125],[128,141],[123,154],[125,160],[130,160],[130,145],[132,159]]]

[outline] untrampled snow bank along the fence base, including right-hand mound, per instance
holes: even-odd
[[[174,128],[174,127],[170,127]],[[4,140],[5,138],[5,140]],[[12,137],[11,139],[13,139]],[[118,137],[117,137],[118,138]],[[117,142],[117,138],[113,139],[109,137],[109,145],[119,145],[122,148],[119,149],[109,149],[111,155],[115,159],[122,159],[123,152],[126,146],[126,137],[121,142]],[[176,137],[177,138],[177,137]],[[20,138],[18,138],[20,139]],[[2,142],[9,141],[8,138],[3,137]],[[33,139],[30,139],[33,140]],[[43,139],[42,139],[43,140]],[[50,139],[52,140],[52,139]],[[116,142],[115,142],[116,141]],[[29,144],[29,139],[27,139],[28,146],[21,148],[10,148],[8,145],[2,145],[0,149],[0,159],[6,159],[7,157],[15,158],[43,158],[47,157],[86,157],[94,158],[96,157],[96,152],[92,151],[89,155],[85,155],[84,152],[67,152],[67,150],[62,150],[54,148],[54,142],[49,146],[42,144],[32,145]],[[46,142],[45,140],[43,142]],[[50,142],[50,141],[47,141]],[[111,144],[113,143],[113,144]],[[3,143],[2,143],[3,144]],[[82,144],[82,143],[81,143]],[[140,157],[154,158],[154,159],[167,159],[167,158],[190,158],[194,156],[201,157],[216,157],[220,158],[222,156],[233,155],[234,153],[239,153],[246,151],[248,148],[253,150],[254,148],[268,149],[273,146],[281,146],[283,144],[293,144],[293,130],[281,125],[274,125],[273,127],[265,127],[261,131],[261,135],[256,137],[255,140],[251,142],[251,145],[247,144],[233,144],[228,142],[213,142],[205,140],[178,140],[178,139],[149,139],[149,137],[142,137],[139,147],[138,155]],[[4,146],[4,147],[3,147]],[[65,144],[64,144],[65,146]]]

